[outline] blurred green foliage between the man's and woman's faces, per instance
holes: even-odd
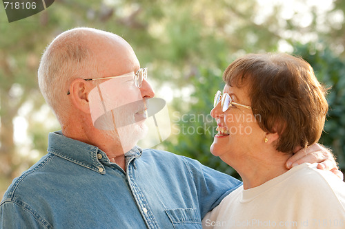
[[[233,168],[210,153],[210,145],[217,133],[217,124],[210,116],[210,110],[215,93],[224,87],[221,74],[221,69],[199,67],[198,72],[190,76],[188,84],[194,85],[190,102],[186,104],[186,98],[175,99],[173,107],[176,111],[172,120],[175,134],[163,144],[168,151],[195,158],[206,166],[239,178]]]

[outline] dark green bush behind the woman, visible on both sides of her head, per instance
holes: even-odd
[[[328,103],[331,107],[325,123],[324,133],[320,143],[330,147],[337,157],[342,171],[345,170],[345,64],[328,48],[315,49],[315,45],[295,45],[295,54],[302,56],[311,63],[320,82],[331,87]],[[186,84],[194,85],[189,103],[186,98],[177,98],[173,108],[177,115],[172,120],[178,131],[172,135],[164,146],[168,151],[193,157],[202,164],[215,168],[239,178],[233,168],[221,162],[219,157],[210,153],[210,145],[216,124],[210,116],[213,107],[213,96],[217,90],[224,87],[221,74],[228,63],[219,61],[221,69],[199,67],[195,75],[190,76]]]

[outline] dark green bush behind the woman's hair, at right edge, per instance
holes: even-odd
[[[328,47],[317,49],[313,44],[295,46],[295,54],[311,64],[315,75],[328,91],[330,107],[320,143],[331,147],[339,167],[345,170],[345,64]]]

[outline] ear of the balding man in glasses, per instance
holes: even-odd
[[[70,84],[70,100],[77,109],[84,113],[90,113],[88,94],[92,87],[90,83],[82,78],[76,78]]]

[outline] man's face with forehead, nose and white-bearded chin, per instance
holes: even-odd
[[[107,46],[108,45],[108,46]],[[126,41],[117,36],[103,43],[103,55],[98,55],[100,78],[89,94],[93,124],[112,140],[119,140],[124,152],[132,149],[146,134],[145,99],[154,96],[144,80],[139,89],[133,75],[139,69],[139,61]],[[130,74],[130,76],[121,76]],[[95,81],[96,82],[96,81]]]

